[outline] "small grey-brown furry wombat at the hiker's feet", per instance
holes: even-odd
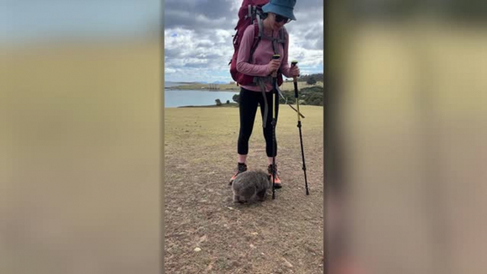
[[[234,191],[234,202],[253,202],[255,199],[264,201],[267,190],[272,188],[270,175],[263,170],[247,170],[240,173],[231,184]]]

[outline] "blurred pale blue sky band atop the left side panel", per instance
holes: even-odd
[[[0,43],[158,35],[161,0],[0,0]]]

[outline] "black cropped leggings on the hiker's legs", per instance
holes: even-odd
[[[276,94],[275,97],[275,124],[277,126],[278,121],[278,113],[279,113],[279,95]],[[263,129],[264,138],[266,138],[266,153],[267,157],[275,157],[278,154],[278,143],[277,138],[275,138],[275,151],[273,153],[273,130],[272,130],[272,122],[273,119],[273,111],[272,111],[272,92],[266,92],[267,98],[267,122],[266,128]],[[256,120],[256,113],[257,113],[257,105],[261,106],[261,115],[262,119],[264,116],[264,108],[265,102],[263,98],[262,92],[253,92],[248,89],[241,88],[240,90],[240,102],[239,102],[239,109],[240,109],[240,133],[239,133],[239,141],[238,141],[238,153],[241,155],[248,154],[248,140],[251,138],[252,129],[253,129],[253,121]],[[262,124],[263,125],[263,124]]]

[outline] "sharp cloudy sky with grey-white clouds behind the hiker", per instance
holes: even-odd
[[[229,61],[241,0],[165,0],[165,81],[231,81]],[[297,0],[289,60],[301,74],[323,72],[323,1]]]

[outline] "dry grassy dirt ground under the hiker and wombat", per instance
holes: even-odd
[[[323,109],[302,106],[305,194],[297,117],[277,127],[283,188],[265,202],[232,201],[237,108],[165,109],[165,273],[323,273]],[[248,168],[266,169],[256,117]]]

